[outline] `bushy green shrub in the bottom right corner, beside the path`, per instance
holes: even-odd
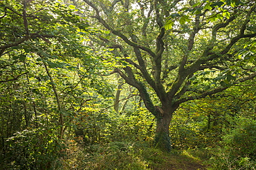
[[[241,122],[212,149],[214,169],[256,169],[256,121]]]

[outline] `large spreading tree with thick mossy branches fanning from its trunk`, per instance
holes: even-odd
[[[122,64],[114,72],[138,89],[165,151],[181,103],[256,76],[254,1],[84,2],[91,24],[109,31],[95,42],[113,49]]]

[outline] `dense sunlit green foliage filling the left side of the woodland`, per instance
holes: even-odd
[[[95,97],[88,81],[103,68],[101,56],[84,44],[95,30],[57,1],[1,2],[1,9],[1,165],[56,169],[66,131]]]

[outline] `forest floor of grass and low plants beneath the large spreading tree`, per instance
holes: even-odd
[[[209,170],[208,152],[205,149],[172,150],[165,153],[148,145],[129,145],[112,142],[107,145],[69,148],[71,155],[63,169],[125,169],[125,170]],[[68,164],[66,164],[69,162]],[[205,163],[206,162],[206,163]],[[72,166],[73,167],[73,166]]]

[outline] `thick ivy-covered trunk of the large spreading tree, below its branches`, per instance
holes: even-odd
[[[172,120],[172,114],[163,114],[156,120],[155,147],[165,152],[171,151],[171,140],[169,127]]]

